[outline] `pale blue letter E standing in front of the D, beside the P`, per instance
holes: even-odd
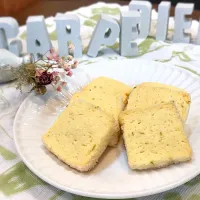
[[[121,56],[136,56],[138,54],[137,43],[134,43],[133,40],[138,38],[137,25],[139,23],[140,13],[138,11],[121,12]]]

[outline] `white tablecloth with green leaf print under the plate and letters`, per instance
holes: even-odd
[[[82,7],[73,11],[81,20],[81,38],[85,53],[99,14],[106,13],[119,20],[120,10],[128,10],[128,6],[118,4],[97,3],[89,7]],[[152,26],[150,36],[155,35],[157,13],[152,12]],[[46,20],[47,29],[53,46],[57,48],[54,17]],[[174,20],[169,20],[168,37],[171,38]],[[191,32],[195,39],[198,22],[193,21]],[[19,38],[23,42],[26,52],[26,26],[20,27]],[[176,67],[184,68],[197,75],[200,74],[200,46],[193,44],[172,44],[155,41],[153,37],[138,40],[140,58],[158,62],[172,63]],[[118,54],[119,42],[109,48],[102,47],[97,58],[84,55],[80,59],[81,65],[88,65],[101,60],[130,59]],[[137,58],[131,58],[137,59]],[[13,120],[17,109],[28,93],[21,94],[15,90],[15,82],[0,85],[0,199],[13,200],[81,200],[90,198],[79,197],[54,188],[35,176],[20,160],[13,142]],[[161,194],[137,198],[138,200],[198,200],[200,199],[200,176],[192,181]]]

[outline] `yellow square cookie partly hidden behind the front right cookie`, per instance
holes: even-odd
[[[126,109],[148,108],[170,101],[174,101],[181,118],[186,121],[191,100],[190,95],[182,90],[150,85],[136,86],[129,96]]]

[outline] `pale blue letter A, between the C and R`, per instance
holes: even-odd
[[[35,59],[52,48],[43,16],[32,16],[27,20],[27,50]]]

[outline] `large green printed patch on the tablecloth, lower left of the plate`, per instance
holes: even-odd
[[[0,191],[6,196],[45,184],[23,162],[18,162],[0,175]]]

